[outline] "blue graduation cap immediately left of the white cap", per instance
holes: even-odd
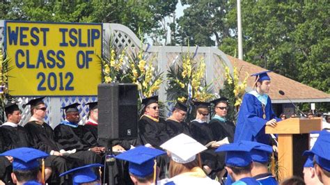
[[[139,146],[115,156],[116,159],[129,161],[128,170],[137,177],[147,177],[154,172],[156,156],[166,152],[150,147]]]

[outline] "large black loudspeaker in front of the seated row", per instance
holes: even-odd
[[[102,83],[97,86],[100,144],[105,140],[137,137],[137,96],[137,86],[132,83]]]

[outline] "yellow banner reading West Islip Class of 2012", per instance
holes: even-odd
[[[97,95],[102,24],[6,21],[14,96]]]

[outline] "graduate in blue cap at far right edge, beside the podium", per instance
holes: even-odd
[[[317,177],[323,184],[330,184],[330,132],[322,130],[311,151],[305,155],[314,154],[314,168]]]

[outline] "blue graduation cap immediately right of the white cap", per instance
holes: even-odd
[[[230,143],[218,147],[215,152],[226,152],[226,165],[244,167],[252,162],[250,151],[253,147],[256,147],[256,144]]]

